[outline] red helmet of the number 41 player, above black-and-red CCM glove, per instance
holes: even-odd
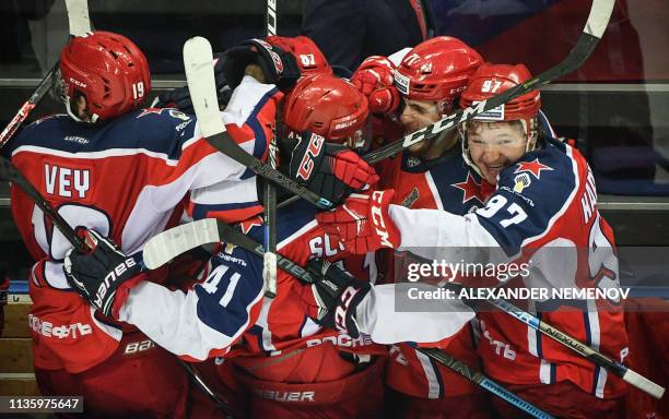
[[[290,130],[308,130],[327,141],[355,136],[368,113],[367,98],[331,74],[302,77],[283,105],[283,122]]]

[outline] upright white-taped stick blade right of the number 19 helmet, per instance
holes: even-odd
[[[184,44],[184,67],[202,135],[209,137],[224,132],[225,125],[221,119],[216,96],[213,53],[207,38],[196,36]]]

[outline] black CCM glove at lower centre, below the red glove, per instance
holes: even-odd
[[[369,283],[324,260],[309,261],[307,268],[318,278],[312,284],[312,292],[318,306],[318,314],[314,319],[316,323],[353,338],[359,337],[355,310],[369,292]]]

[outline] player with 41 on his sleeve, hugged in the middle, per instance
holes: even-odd
[[[341,106],[334,106],[336,103]],[[328,109],[329,115],[321,112],[321,108]],[[302,118],[294,118],[294,112]],[[353,136],[365,117],[365,98],[348,82],[330,75],[302,80],[284,107],[284,121],[290,130],[315,129],[338,140]],[[317,145],[315,148],[325,149],[326,155],[302,153],[297,146],[291,171],[313,166],[313,170],[321,172],[321,179],[328,179],[332,175],[324,175],[320,167],[320,160],[330,158],[327,153],[333,149],[338,155],[351,153],[336,144],[324,144],[318,134],[303,132],[298,136]],[[331,180],[325,181],[328,182]],[[279,252],[305,265],[313,258],[345,255],[317,227],[315,211],[307,203],[297,202],[278,214]],[[242,224],[242,230],[258,237],[260,226],[260,218],[251,218]],[[117,263],[124,260],[116,259]],[[69,256],[69,275],[81,284],[77,287],[84,295],[86,289],[97,289],[99,279],[95,278],[105,277],[114,267],[114,263],[101,266],[99,261],[104,259]],[[384,362],[372,355],[385,350],[373,340],[437,342],[471,319],[471,312],[460,316],[442,313],[425,323],[431,326],[416,330],[410,314],[392,310],[390,289],[371,290],[366,283],[345,274],[338,276],[340,290],[332,292],[332,288],[304,285],[280,272],[277,297],[263,299],[258,306],[261,268],[257,256],[227,243],[213,258],[209,278],[186,296],[145,282],[134,286],[133,272],[128,270],[116,284],[134,287],[128,294],[110,290],[107,292],[110,297],[104,298],[108,302],[96,304],[115,308],[115,316],[137,324],[156,343],[183,357],[204,359],[227,352],[230,360],[222,363],[222,376],[225,379],[232,371],[240,382],[243,402],[235,405],[240,405],[243,416],[274,418],[377,416],[382,409]],[[114,287],[119,289],[118,285]],[[344,291],[359,297],[347,300],[350,303],[345,306],[344,321],[338,324],[333,309],[341,303]],[[93,292],[91,297],[95,302]],[[156,311],[156,306],[163,309]],[[247,314],[248,311],[259,313]],[[338,325],[343,334],[334,330]],[[240,345],[233,346],[239,337]]]

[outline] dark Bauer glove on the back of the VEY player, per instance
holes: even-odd
[[[142,279],[140,265],[109,239],[93,230],[86,235],[94,249],[86,254],[68,251],[62,270],[70,286],[91,306],[118,319],[128,292]]]

